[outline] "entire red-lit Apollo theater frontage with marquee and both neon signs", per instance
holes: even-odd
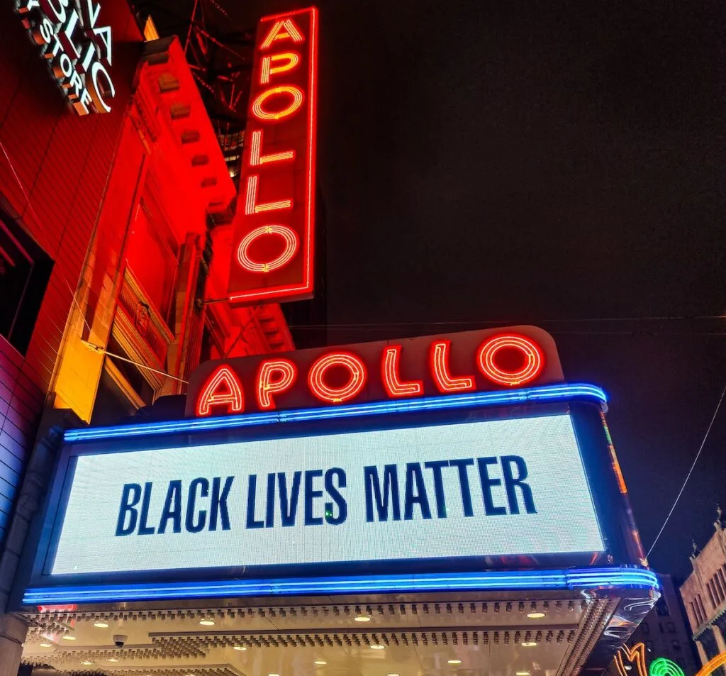
[[[603,672],[659,596],[605,392],[531,326],[294,349],[317,10],[239,195],[176,38],[2,12],[0,676]]]

